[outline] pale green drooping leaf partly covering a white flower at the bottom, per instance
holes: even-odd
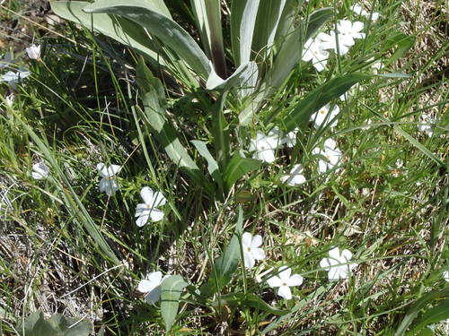
[[[165,330],[169,332],[178,314],[180,306],[180,294],[187,287],[187,282],[180,275],[171,275],[161,284],[161,313]]]

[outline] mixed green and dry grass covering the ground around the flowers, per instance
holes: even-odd
[[[17,3],[6,3],[18,9]],[[418,46],[428,39],[435,44],[412,48],[387,65],[388,71],[411,77],[365,82],[339,102],[335,130],[320,135],[311,127],[300,134],[294,150],[278,151],[275,164],[242,178],[224,202],[203,194],[147,132],[130,50],[92,39],[67,23],[64,35],[76,45],[48,34],[42,39],[42,62],[18,55],[17,64],[30,67],[32,75],[19,86],[11,108],[0,105],[1,333],[16,334],[17,323],[41,309],[47,316],[85,318],[95,332],[163,334],[161,311],[145,304],[136,291],[138,281],[147,272],[163,271],[180,274],[195,287],[204,284],[212,262],[233,237],[242,205],[244,230],[263,237],[267,258],[251,271],[240,263],[221,294],[253,293],[288,313],[279,317],[243,304],[213,306],[184,295],[172,334],[393,335],[419,299],[447,289],[442,273],[449,268],[443,18],[423,25],[418,15],[404,16],[398,6],[380,6],[383,17],[367,39],[330,68],[354,69],[358,60],[372,56],[388,60],[388,38],[399,33],[398,22],[407,22]],[[339,8],[339,19],[349,13]],[[436,8],[443,11],[443,2]],[[0,19],[11,15],[1,13]],[[312,66],[301,72],[289,79],[285,95],[313,87]],[[7,90],[0,83],[0,104]],[[211,121],[201,110],[207,104],[204,94],[182,97],[170,83],[166,91],[180,133],[207,141]],[[279,96],[273,105],[285,109]],[[238,108],[230,107],[229,113]],[[436,116],[432,137],[418,132],[422,113]],[[368,120],[372,124],[366,128]],[[327,137],[338,142],[344,159],[338,172],[320,175],[311,152]],[[51,177],[35,181],[31,166],[40,159],[48,162]],[[99,162],[123,165],[120,191],[110,199],[98,190]],[[304,165],[307,183],[282,185],[279,177],[294,163]],[[145,185],[161,190],[168,205],[163,221],[137,228],[136,203]],[[239,202],[242,193],[251,194],[248,202]],[[101,248],[105,244],[117,261]],[[354,254],[359,265],[348,280],[330,282],[321,270],[331,246]],[[304,277],[288,301],[266,281],[257,281],[260,273],[284,264]],[[447,298],[445,293],[430,301],[418,317]],[[435,334],[445,332],[441,323]]]

